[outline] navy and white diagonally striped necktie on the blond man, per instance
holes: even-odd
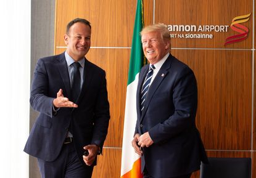
[[[147,72],[146,79],[142,85],[141,89],[141,111],[144,109],[144,103],[146,100],[147,91],[149,90],[149,85],[151,84],[151,78],[153,75],[154,65],[150,65],[149,71]]]

